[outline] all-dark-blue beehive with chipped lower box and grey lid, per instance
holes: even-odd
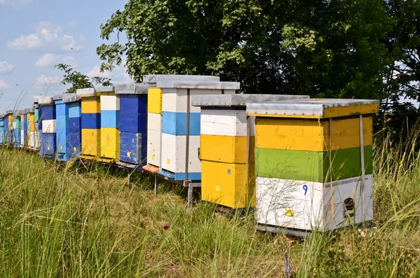
[[[147,92],[150,85],[127,83],[116,85],[120,97],[120,162],[136,168],[146,162]]]

